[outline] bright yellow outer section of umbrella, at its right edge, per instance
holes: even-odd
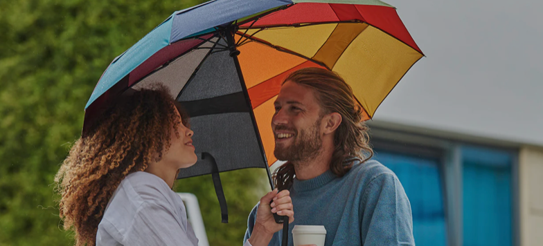
[[[421,57],[398,39],[369,26],[346,48],[332,70],[353,87],[355,96],[373,117],[384,97]]]

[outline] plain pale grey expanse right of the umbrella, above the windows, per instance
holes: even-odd
[[[543,146],[542,1],[386,2],[427,57],[375,121]]]

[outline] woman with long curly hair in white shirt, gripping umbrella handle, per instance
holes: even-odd
[[[75,142],[55,176],[64,229],[76,245],[191,245],[183,201],[172,191],[177,171],[197,161],[187,115],[163,86],[121,97]],[[274,200],[274,202],[272,202]],[[294,220],[287,191],[260,200],[258,229],[245,245],[267,245]],[[271,207],[270,207],[271,206]]]

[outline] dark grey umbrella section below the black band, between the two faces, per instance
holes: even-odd
[[[190,125],[195,133],[193,144],[198,161],[193,167],[181,169],[178,178],[212,172],[213,166],[207,159],[202,160],[202,152],[210,153],[215,158],[219,171],[266,168],[249,113],[193,117]]]

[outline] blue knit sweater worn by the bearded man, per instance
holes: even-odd
[[[294,225],[324,225],[325,246],[415,245],[411,205],[395,174],[376,160],[357,162],[342,178],[330,170],[290,189]],[[249,214],[244,242],[251,236],[258,204]],[[269,245],[281,245],[283,230]]]

